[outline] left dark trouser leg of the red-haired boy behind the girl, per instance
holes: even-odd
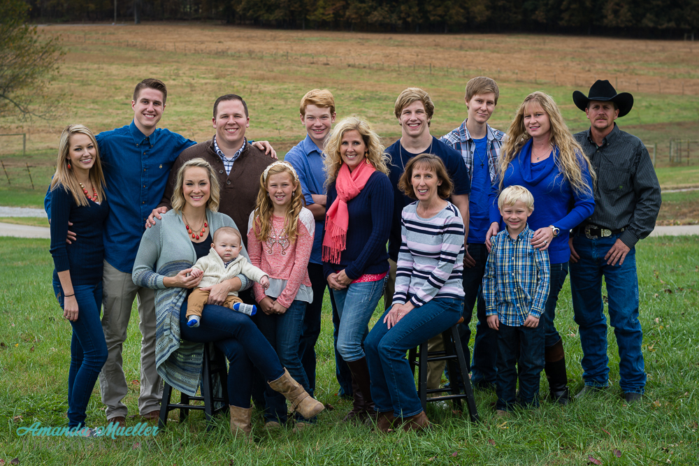
[[[320,315],[323,310],[323,296],[328,282],[323,274],[323,265],[308,263],[308,278],[313,289],[313,302],[306,305],[303,317],[301,340],[298,342],[298,356],[308,379],[308,394],[315,392],[315,343],[320,335]],[[288,367],[287,367],[288,369]],[[294,377],[296,378],[296,377]],[[298,381],[298,380],[297,380]],[[300,381],[299,381],[300,382]]]

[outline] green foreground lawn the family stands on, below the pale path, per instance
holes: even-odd
[[[0,274],[0,460],[20,465],[586,465],[696,464],[699,412],[699,254],[696,238],[649,238],[637,247],[640,321],[648,373],[646,396],[627,407],[619,398],[619,357],[610,330],[610,393],[559,407],[494,415],[495,395],[477,391],[481,422],[471,424],[449,409],[428,407],[437,425],[419,435],[384,436],[340,423],[350,407],[336,396],[332,323],[324,304],[317,344],[317,397],[335,409],[301,435],[291,429],[269,435],[254,415],[257,444],[245,446],[229,434],[228,419],[206,432],[203,414],[168,423],[157,437],[63,439],[20,437],[16,430],[40,421],[66,425],[71,328],[52,296],[48,240],[0,238],[5,272]],[[582,356],[572,320],[570,291],[559,298],[556,325],[568,358],[570,387],[582,388]],[[375,318],[379,312],[375,314]],[[134,309],[124,345],[124,370],[131,414],[138,397],[138,314]],[[542,393],[547,384],[542,379]],[[104,414],[95,389],[87,410],[91,425]],[[173,418],[177,414],[173,413]],[[129,420],[131,425],[135,420]],[[619,453],[615,453],[618,451]],[[617,456],[620,454],[619,458]]]

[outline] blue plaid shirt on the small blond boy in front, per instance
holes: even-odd
[[[491,238],[483,276],[485,313],[497,314],[506,326],[522,326],[529,314],[540,318],[549,296],[549,253],[532,247],[533,235],[527,225],[514,240],[507,228]]]

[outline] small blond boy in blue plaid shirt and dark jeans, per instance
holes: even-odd
[[[491,238],[483,277],[488,326],[498,335],[498,416],[514,405],[539,406],[544,369],[544,326],[539,319],[549,296],[549,254],[531,245],[534,232],[526,219],[534,210],[528,189],[503,189],[498,207],[507,228]],[[519,377],[519,394],[517,378]]]

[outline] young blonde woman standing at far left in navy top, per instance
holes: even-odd
[[[109,207],[97,142],[82,124],[66,126],[50,187],[53,289],[73,327],[68,376],[68,425],[85,427],[85,410],[107,360],[102,332],[103,224]],[[79,241],[66,244],[68,224]],[[92,430],[84,430],[90,436]]]

